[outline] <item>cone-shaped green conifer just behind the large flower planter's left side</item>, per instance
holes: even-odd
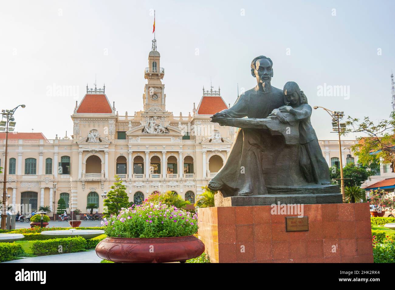
[[[104,200],[106,211],[104,217],[109,217],[111,214],[118,215],[121,208],[128,208],[129,197],[126,193],[126,186],[120,181],[116,175],[114,185],[111,185],[111,190],[107,193],[107,198]]]

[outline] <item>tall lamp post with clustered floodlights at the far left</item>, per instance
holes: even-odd
[[[12,110],[2,110],[2,118],[5,118],[5,121],[0,122],[0,131],[6,131],[6,154],[4,155],[4,183],[3,183],[3,205],[6,205],[6,189],[7,189],[7,147],[8,147],[8,132],[14,131],[15,123],[14,122],[14,113],[18,109],[18,107],[26,107],[25,105],[19,105]],[[11,128],[10,128],[11,127]],[[1,228],[2,230],[6,229],[6,218],[7,213],[5,210],[2,211],[1,215]]]

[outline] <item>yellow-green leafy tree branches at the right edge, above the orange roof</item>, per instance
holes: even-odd
[[[390,120],[382,120],[376,125],[365,117],[362,122],[359,119],[348,117],[346,125],[353,129],[347,132],[357,132],[367,135],[357,138],[358,144],[351,146],[358,162],[363,166],[369,166],[375,160],[382,158],[385,163],[391,163],[394,172],[395,163],[395,111],[391,112]]]

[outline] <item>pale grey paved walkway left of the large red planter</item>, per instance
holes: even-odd
[[[102,259],[99,258],[93,250],[88,252],[38,256],[3,263],[100,263],[101,260]]]

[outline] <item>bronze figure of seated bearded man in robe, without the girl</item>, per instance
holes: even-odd
[[[270,58],[263,55],[254,58],[251,75],[256,78],[257,85],[240,95],[233,107],[214,114],[211,122],[221,124],[218,117],[267,118],[274,109],[285,105],[283,91],[271,85],[273,62]],[[277,118],[286,123],[282,113]],[[267,131],[239,129],[226,164],[208,187],[220,190],[224,197],[267,194],[262,163],[265,151],[275,148],[275,142]]]

